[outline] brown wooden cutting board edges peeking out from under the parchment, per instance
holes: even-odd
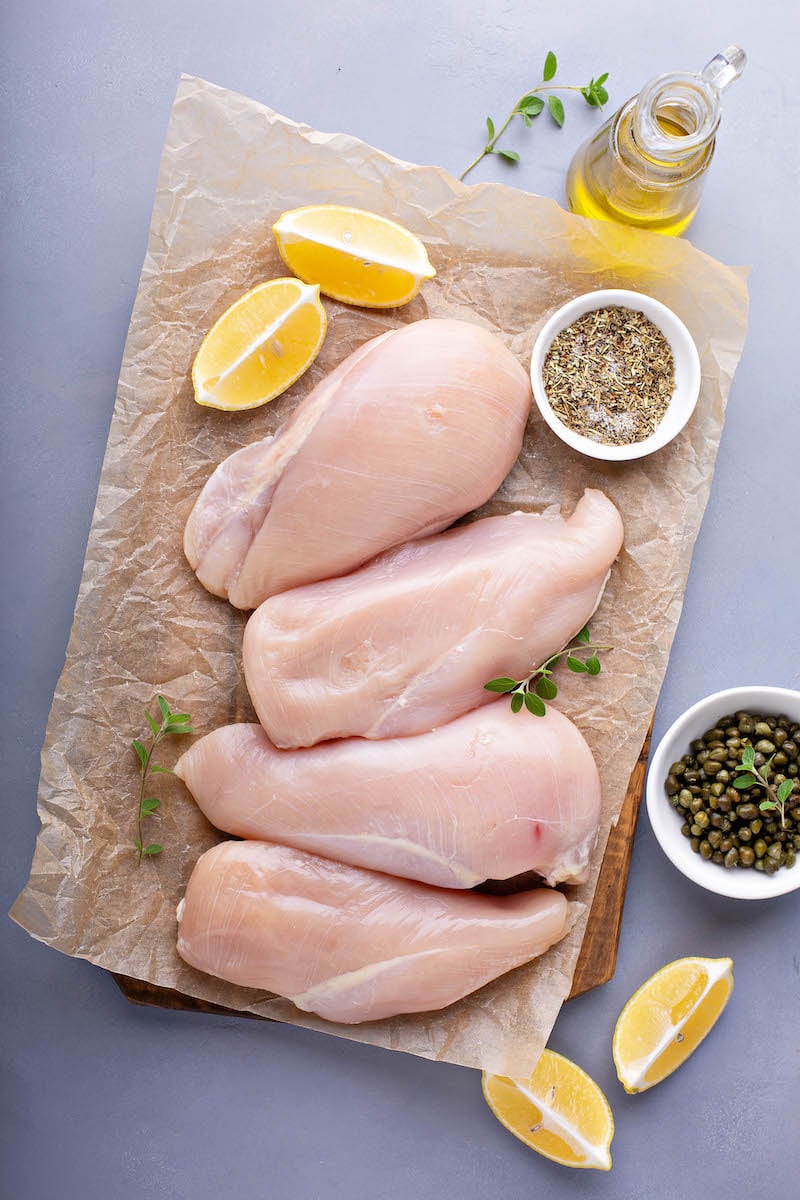
[[[644,791],[651,732],[652,722],[650,722],[650,730],[633,768],[631,781],[627,785],[619,821],[612,829],[606,845],[603,865],[600,869],[595,899],[589,913],[581,954],[578,955],[578,964],[572,979],[572,990],[567,1000],[583,996],[584,992],[591,991],[593,988],[599,988],[601,984],[608,983],[616,967],[619,931],[622,922],[627,875],[631,866],[633,835],[636,834],[642,792]],[[222,1004],[211,1004],[205,1000],[185,996],[173,988],[158,988],[156,984],[148,983],[144,979],[133,979],[131,976],[118,974],[115,972],[112,972],[112,974],[120,985],[122,994],[133,1004],[151,1004],[156,1008],[186,1008],[196,1013],[221,1013],[228,1016],[252,1016],[259,1021],[269,1020],[269,1018],[258,1016],[255,1013],[243,1013],[240,1009],[224,1008]]]

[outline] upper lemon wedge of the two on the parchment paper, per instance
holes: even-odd
[[[272,232],[289,270],[344,304],[395,308],[437,274],[420,239],[377,212],[337,204],[291,209]]]

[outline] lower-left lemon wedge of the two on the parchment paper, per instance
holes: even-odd
[[[326,326],[318,287],[259,283],[206,334],[192,367],[196,401],[228,412],[266,404],[311,366]]]

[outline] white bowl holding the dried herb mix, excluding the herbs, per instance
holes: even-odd
[[[593,442],[591,438],[576,433],[560,420],[551,408],[547,398],[545,384],[542,382],[542,367],[547,352],[553,338],[571,325],[585,312],[594,312],[595,308],[633,308],[643,312],[654,325],[661,330],[673,353],[675,361],[675,388],[669,401],[669,407],[660,421],[657,428],[643,442],[630,442],[626,445],[614,446],[603,442]],[[563,442],[573,450],[588,455],[590,458],[603,458],[607,462],[627,462],[632,458],[644,458],[655,450],[661,450],[668,442],[672,442],[686,425],[694,412],[697,397],[700,394],[700,359],[694,346],[692,335],[686,329],[682,320],[675,316],[672,308],[645,295],[644,292],[627,292],[622,288],[606,288],[600,292],[587,292],[585,295],[576,296],[558,308],[542,326],[539,337],[534,343],[534,353],[530,360],[530,382],[534,389],[534,398],[540,413]]]

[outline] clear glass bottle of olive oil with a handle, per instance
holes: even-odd
[[[745,62],[745,52],[729,46],[700,74],[663,74],[645,84],[576,154],[566,181],[570,209],[684,233],[714,156],[720,95]]]

